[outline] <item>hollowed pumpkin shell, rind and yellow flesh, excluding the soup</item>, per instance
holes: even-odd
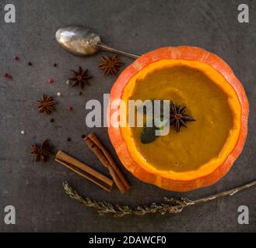
[[[146,163],[139,159],[139,153],[135,153],[130,146],[132,144],[127,141],[124,133],[122,133],[121,127],[118,123],[113,125],[112,122],[108,128],[108,134],[110,141],[117,152],[117,156],[121,160],[124,167],[130,171],[139,180],[149,184],[155,184],[160,188],[164,188],[170,191],[191,191],[196,188],[202,188],[214,184],[219,181],[232,167],[233,162],[239,157],[243,150],[244,143],[247,136],[247,117],[249,113],[249,105],[244,88],[237,77],[233,74],[231,68],[218,56],[213,53],[209,53],[198,47],[163,47],[157,50],[153,50],[146,53],[135,60],[130,66],[128,66],[121,75],[117,78],[113,88],[110,91],[110,106],[116,100],[123,98],[124,89],[128,86],[137,74],[146,70],[147,67],[154,67],[156,62],[163,61],[182,61],[186,64],[198,63],[201,70],[213,71],[212,73],[219,74],[223,77],[223,87],[231,87],[236,98],[234,101],[235,107],[237,106],[237,136],[233,139],[233,143],[229,144],[226,149],[223,159],[215,160],[215,164],[206,163],[202,167],[198,167],[197,170],[192,173],[166,173],[156,170],[150,167]],[[209,67],[209,69],[207,69]],[[205,69],[204,69],[205,68]],[[208,73],[209,73],[208,71]],[[225,84],[225,85],[224,85]],[[113,114],[116,114],[118,109],[108,109],[108,120]],[[120,114],[120,113],[119,113]],[[189,129],[189,128],[188,128]],[[172,150],[170,150],[172,153]]]

